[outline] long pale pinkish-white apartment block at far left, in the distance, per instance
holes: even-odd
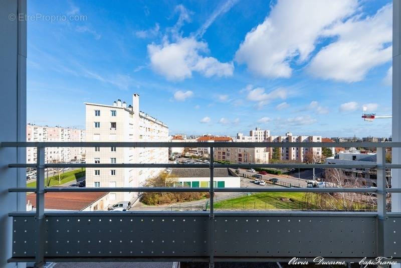
[[[85,130],[61,126],[27,124],[27,142],[84,142]],[[36,163],[36,148],[27,148],[27,163]],[[45,161],[48,163],[69,162],[85,159],[84,147],[47,147]]]

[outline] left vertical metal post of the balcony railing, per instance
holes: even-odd
[[[45,264],[45,148],[37,148],[36,162],[36,252],[35,267]]]

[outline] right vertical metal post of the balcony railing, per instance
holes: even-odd
[[[377,256],[384,256],[384,221],[386,220],[385,148],[377,148]]]

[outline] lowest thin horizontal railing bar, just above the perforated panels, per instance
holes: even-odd
[[[210,188],[164,187],[48,187],[46,192],[210,192]],[[35,193],[36,188],[9,188],[11,193]],[[376,188],[215,188],[224,193],[381,193]],[[386,188],[386,193],[401,193],[399,188]]]

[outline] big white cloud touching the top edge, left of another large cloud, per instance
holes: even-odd
[[[282,0],[265,21],[252,29],[235,59],[266,77],[290,77],[290,61],[304,62],[315,49],[322,30],[349,16],[356,0]]]

